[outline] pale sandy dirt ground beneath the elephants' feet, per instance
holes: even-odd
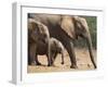
[[[77,65],[78,69],[70,69],[70,59],[65,51],[65,64],[60,64],[62,55],[58,54],[54,62],[54,66],[46,66],[48,65],[48,58],[45,55],[38,55],[38,60],[42,65],[28,65],[27,72],[28,73],[39,73],[39,72],[66,72],[66,71],[81,71],[81,70],[94,70],[93,64],[90,60],[90,54],[87,49],[75,49],[76,57],[77,57]],[[93,50],[94,58],[96,61],[96,50]]]

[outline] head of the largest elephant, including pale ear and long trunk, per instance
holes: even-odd
[[[60,26],[62,29],[64,29],[70,38],[78,39],[80,36],[86,40],[91,61],[96,69],[92,51],[92,40],[86,20],[80,16],[62,16]]]

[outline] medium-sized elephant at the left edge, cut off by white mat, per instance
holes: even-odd
[[[40,65],[36,58],[36,49],[39,42],[49,49],[49,39],[50,34],[48,27],[33,18],[28,18],[28,64]],[[48,55],[48,60],[50,64],[50,55]]]

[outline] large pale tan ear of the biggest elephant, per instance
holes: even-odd
[[[62,16],[60,27],[70,38],[76,38],[75,24],[71,20],[71,16]]]

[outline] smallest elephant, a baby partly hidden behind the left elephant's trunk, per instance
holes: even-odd
[[[39,40],[38,40],[38,42],[39,42],[38,48],[36,49],[36,59],[37,59],[38,54],[40,54],[40,55],[46,54],[48,58],[49,58],[49,54],[50,54],[51,61],[48,60],[48,62],[51,62],[51,65],[53,65],[56,55],[58,53],[62,53],[62,64],[64,64],[64,46],[59,40],[57,40],[53,37],[50,38],[50,40],[49,40],[50,51],[48,51],[49,49],[48,49],[46,44],[41,44],[41,41],[39,41]]]

